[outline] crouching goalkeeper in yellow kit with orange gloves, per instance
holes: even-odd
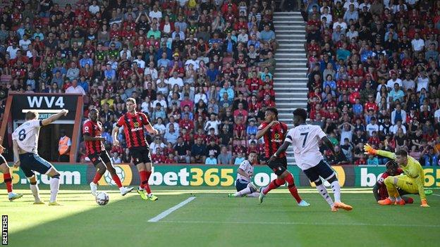
[[[391,153],[383,150],[376,150],[366,144],[364,146],[364,151],[367,154],[383,156],[386,158],[391,158],[391,160],[396,160],[396,163],[403,170],[403,175],[389,176],[386,177],[384,183],[386,190],[388,191],[388,198],[378,201],[380,205],[405,205],[405,201],[398,194],[397,188],[407,191],[410,194],[419,194],[420,201],[422,202],[421,207],[429,207],[426,196],[424,195],[424,172],[422,165],[408,156],[405,150],[398,150],[396,153]]]

